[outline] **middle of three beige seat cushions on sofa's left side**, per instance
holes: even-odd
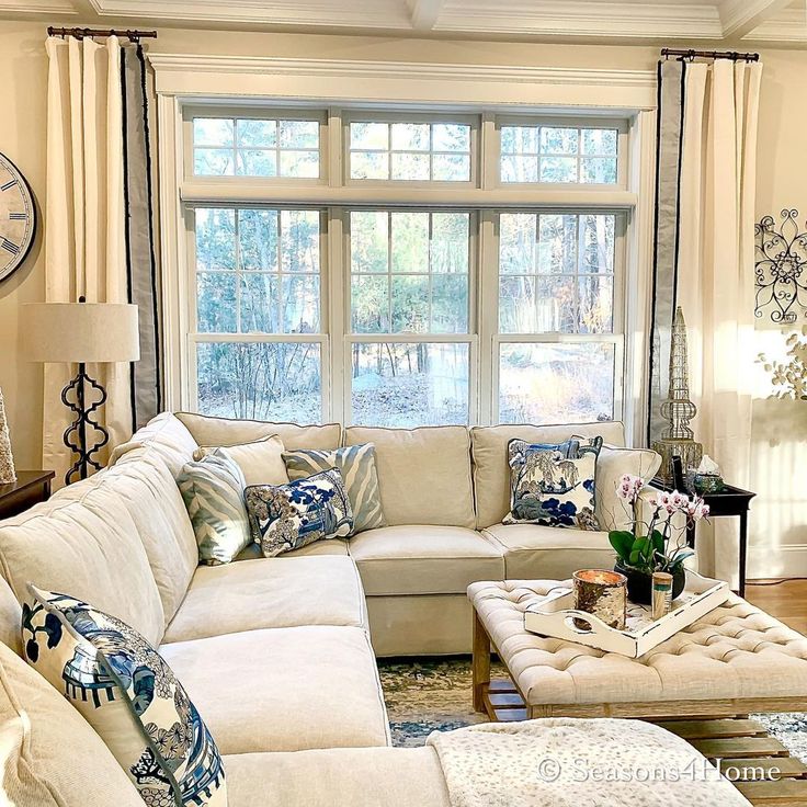
[[[160,652],[221,753],[389,745],[363,628],[248,630],[163,645]]]

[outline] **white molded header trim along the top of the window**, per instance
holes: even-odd
[[[157,91],[362,103],[653,109],[653,70],[149,54]]]

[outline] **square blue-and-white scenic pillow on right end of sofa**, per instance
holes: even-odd
[[[602,437],[571,437],[556,445],[511,440],[504,523],[599,530],[594,492],[601,447]]]

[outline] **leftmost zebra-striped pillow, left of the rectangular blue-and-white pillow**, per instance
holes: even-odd
[[[252,543],[243,473],[224,448],[187,463],[177,479],[203,564],[229,564]]]

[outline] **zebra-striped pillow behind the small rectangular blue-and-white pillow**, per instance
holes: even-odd
[[[353,510],[351,535],[386,525],[373,443],[349,445],[334,451],[286,451],[283,452],[283,459],[292,480],[305,479],[328,468],[339,468]]]

